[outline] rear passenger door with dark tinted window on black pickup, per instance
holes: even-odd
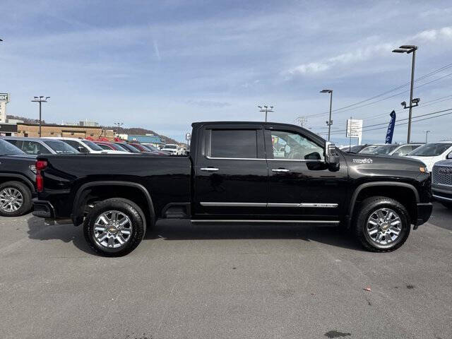
[[[268,171],[260,124],[212,124],[201,129],[194,214],[225,219],[266,211]]]

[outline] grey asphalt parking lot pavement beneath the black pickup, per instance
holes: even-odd
[[[452,338],[452,212],[429,221],[389,254],[330,227],[159,222],[102,258],[80,227],[1,218],[1,338]]]

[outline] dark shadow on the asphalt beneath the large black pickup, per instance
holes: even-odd
[[[44,220],[30,215],[28,237],[37,240],[57,239],[72,242],[88,254],[95,254],[85,241],[83,227],[68,225],[44,225]],[[212,240],[212,239],[300,239],[304,242],[319,242],[331,246],[364,251],[350,232],[338,227],[319,227],[299,224],[191,224],[188,220],[159,220],[145,234],[143,242],[165,240]]]

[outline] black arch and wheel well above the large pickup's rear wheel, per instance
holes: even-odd
[[[111,190],[112,188],[116,186],[123,186],[128,187],[129,190],[126,190],[126,193],[121,192],[120,194],[114,194],[114,196],[109,196],[106,198],[126,198],[131,200],[133,203],[136,203],[138,207],[143,209],[143,213],[145,215],[145,219],[143,220],[146,224],[152,225],[155,222],[155,210],[153,205],[153,200],[150,196],[149,191],[143,186],[142,184],[138,184],[136,182],[117,182],[117,181],[100,181],[100,182],[88,182],[86,184],[81,185],[78,190],[76,191],[74,200],[73,200],[73,206],[72,206],[72,215],[71,219],[73,221],[74,225],[80,225],[83,222],[83,207],[84,204],[87,202],[88,197],[90,194],[97,194],[99,189],[102,189],[102,187],[107,188]],[[137,192],[138,195],[131,197],[131,192]],[[143,201],[140,200],[140,198],[145,198],[145,204]]]

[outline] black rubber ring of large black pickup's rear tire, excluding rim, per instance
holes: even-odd
[[[134,205],[134,204],[133,204]],[[135,205],[136,206],[136,205]],[[129,204],[126,199],[108,199],[102,201],[102,203],[97,203],[97,205],[90,211],[90,213],[85,218],[83,223],[83,232],[85,234],[85,239],[90,244],[91,248],[99,254],[105,256],[124,256],[129,254],[136,246],[140,244],[144,237],[143,221],[141,220],[140,212],[136,210],[136,207]],[[95,240],[94,235],[94,224],[97,217],[107,210],[118,210],[129,217],[132,224],[132,234],[130,239],[117,249],[109,249],[102,246]]]

